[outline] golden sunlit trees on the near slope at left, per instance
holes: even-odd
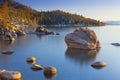
[[[36,19],[33,16],[34,11],[30,9],[20,9],[9,6],[9,3],[0,4],[0,27],[4,30],[9,29],[24,29],[24,25],[33,27],[37,25]]]

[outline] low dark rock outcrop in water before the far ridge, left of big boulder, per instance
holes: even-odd
[[[42,26],[37,27],[35,33],[38,35],[60,35],[59,33],[51,32],[47,28]]]

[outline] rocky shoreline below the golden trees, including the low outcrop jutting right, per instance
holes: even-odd
[[[3,30],[0,28],[0,36],[5,41],[14,41],[19,36],[25,36],[26,34],[36,35],[60,35],[59,33],[51,32],[47,28],[38,26],[34,32],[26,33],[25,30]]]

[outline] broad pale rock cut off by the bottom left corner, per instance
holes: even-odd
[[[18,80],[18,79],[21,79],[21,77],[22,75],[20,72],[0,70],[1,80]]]

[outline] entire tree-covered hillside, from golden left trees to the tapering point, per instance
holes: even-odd
[[[98,20],[60,10],[38,12],[14,0],[2,0],[0,3],[0,27],[3,29],[18,28],[18,25],[21,29],[24,28],[24,25],[28,25],[28,27],[68,24],[79,26],[104,25]]]

